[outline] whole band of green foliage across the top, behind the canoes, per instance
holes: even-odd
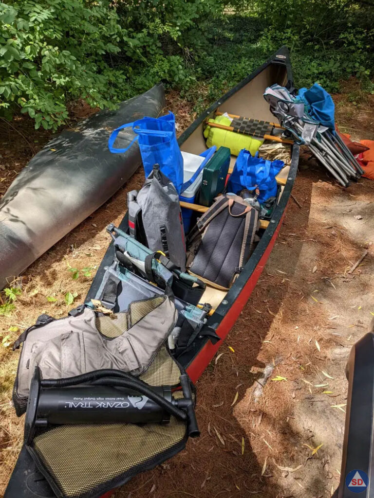
[[[300,86],[372,90],[373,26],[370,1],[0,2],[0,113],[56,129],[69,101],[113,108],[160,80],[198,105],[199,83],[213,99],[284,44]]]

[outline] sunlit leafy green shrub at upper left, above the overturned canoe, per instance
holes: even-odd
[[[0,3],[0,110],[45,129],[67,118],[68,100],[115,103],[156,81],[193,82],[183,38],[218,0],[13,0]],[[201,43],[196,40],[196,43]]]

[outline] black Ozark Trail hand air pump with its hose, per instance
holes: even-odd
[[[187,421],[189,437],[199,436],[194,400],[186,373],[180,376],[183,398],[170,386],[155,387],[119,370],[98,370],[75,377],[41,379],[35,368],[29,389],[24,441],[36,428],[58,424],[160,423],[171,415]]]

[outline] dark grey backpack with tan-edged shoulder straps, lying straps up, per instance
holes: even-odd
[[[214,287],[228,289],[249,259],[258,225],[258,211],[241,197],[217,197],[188,237],[189,271]]]

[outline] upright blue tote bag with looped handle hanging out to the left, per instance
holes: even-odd
[[[123,124],[110,135],[109,150],[115,154],[124,153],[138,140],[146,178],[153,171],[153,165],[160,164],[160,170],[173,182],[180,194],[183,185],[183,157],[177,141],[175,124],[176,119],[171,112],[160,118],[145,117],[134,123]],[[118,133],[129,126],[132,126],[136,133],[135,138],[126,148],[115,148],[113,145]]]

